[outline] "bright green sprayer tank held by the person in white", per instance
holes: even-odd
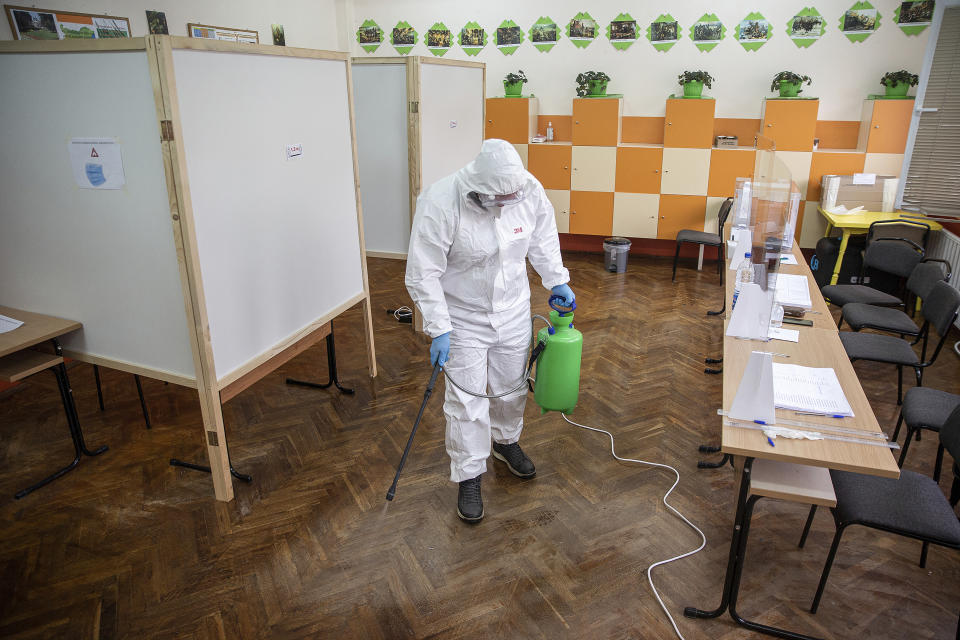
[[[550,302],[550,306],[553,306],[553,298]],[[537,381],[533,387],[533,397],[540,405],[541,413],[570,413],[577,406],[580,395],[583,334],[573,328],[572,312],[554,309],[550,312],[553,326],[545,327],[537,334],[537,342],[545,342],[546,347],[537,358]]]

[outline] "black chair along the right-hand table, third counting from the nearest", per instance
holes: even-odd
[[[897,404],[902,404],[903,368],[913,367],[917,376],[917,386],[923,386],[923,370],[936,362],[947,333],[950,331],[950,325],[957,319],[958,310],[960,310],[960,291],[946,282],[934,283],[930,295],[923,301],[924,323],[919,334],[923,347],[919,356],[909,342],[896,336],[841,331],[840,342],[843,343],[843,348],[851,362],[872,360],[897,365]],[[931,327],[936,330],[940,340],[928,360],[927,347]]]

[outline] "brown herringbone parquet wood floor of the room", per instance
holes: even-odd
[[[631,256],[626,274],[595,255],[566,258],[584,332],[575,418],[615,433],[621,455],[676,465],[672,498],[706,533],[701,554],[655,578],[694,638],[744,638],[728,617],[687,620],[685,605],[720,597],[733,519],[729,467],[698,471],[696,447],[716,442],[720,379],[703,357],[721,349],[712,265]],[[539,416],[528,404],[522,443],[538,475],[519,481],[491,460],[486,519],[455,515],[447,481],[442,384],[427,408],[395,502],[384,493],[429,376],[427,341],[388,308],[409,304],[403,263],[370,260],[380,377],[366,375],[359,312],[335,323],[341,396],[284,385],[325,376],[321,343],[225,408],[234,464],[253,474],[236,500],[213,499],[193,391],[144,380],[154,428],[144,429],[132,376],[70,371],[90,444],[110,445],[67,477],[13,493],[72,454],[52,376],[0,396],[0,638],[670,638],[644,571],[696,545],[660,503],[671,476],[614,461],[604,436]],[[534,287],[534,309],[547,292]],[[957,390],[944,353],[929,386]],[[896,420],[892,368],[857,365],[881,424]],[[908,468],[929,473],[930,434]],[[949,466],[947,466],[949,469]],[[949,472],[943,480],[949,488]],[[754,515],[740,611],[829,638],[948,638],[957,625],[960,554],[851,529],[820,612],[807,613],[833,533],[821,512],[804,550],[800,505],[761,501]]]

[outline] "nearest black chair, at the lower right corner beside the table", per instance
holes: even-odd
[[[950,414],[940,432],[940,439],[954,460],[960,459],[960,408]],[[836,470],[830,471],[830,477],[837,495],[837,506],[830,509],[837,531],[810,613],[816,613],[820,606],[840,537],[850,525],[859,524],[922,541],[921,567],[927,565],[927,549],[931,543],[960,549],[960,521],[953,512],[953,505],[940,491],[940,485],[932,478],[913,471],[901,471],[900,478],[893,479]],[[953,496],[951,500],[954,500]],[[816,511],[817,506],[813,505],[800,537],[801,548]]]

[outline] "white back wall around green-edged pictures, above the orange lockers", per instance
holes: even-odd
[[[880,93],[880,76],[886,71],[908,69],[919,73],[927,43],[925,30],[906,36],[893,21],[898,0],[872,0],[880,12],[880,28],[865,42],[852,43],[839,30],[840,16],[854,0],[820,0],[796,3],[782,0],[685,0],[653,3],[611,2],[610,0],[539,0],[516,2],[486,0],[352,0],[353,24],[350,42],[353,54],[367,56],[353,32],[366,19],[373,19],[386,32],[387,40],[373,55],[396,55],[389,42],[393,26],[406,20],[417,30],[419,43],[412,55],[432,55],[424,44],[427,29],[440,21],[456,35],[468,21],[477,21],[487,30],[488,44],[476,57],[467,56],[459,45],[448,58],[480,60],[487,63],[487,95],[503,95],[503,76],[523,69],[530,82],[524,93],[540,98],[543,114],[569,114],[575,97],[576,75],[581,71],[606,72],[613,81],[608,92],[624,94],[624,114],[661,116],[665,98],[680,89],[677,75],[687,69],[704,69],[716,78],[710,95],[717,98],[717,116],[758,118],[762,98],[770,94],[770,79],[778,71],[791,70],[813,78],[806,95],[820,97],[821,120],[859,120],[863,99]],[[819,42],[798,48],[786,34],[787,21],[805,6],[815,7],[825,18],[826,32]],[[541,53],[529,42],[527,30],[539,17],[549,16],[558,25],[580,11],[588,11],[602,34],[586,49],[579,49],[566,37],[549,53]],[[613,48],[606,39],[607,24],[621,12],[638,22],[641,39],[626,51]],[[733,30],[747,14],[759,11],[771,23],[772,37],[759,51],[744,51],[733,39]],[[680,42],[666,53],[658,52],[646,39],[647,25],[661,13],[670,13],[682,27]],[[710,52],[700,52],[690,40],[690,26],[704,13],[716,13],[727,27],[726,38]],[[524,42],[510,56],[500,53],[492,36],[503,20],[514,20],[524,30]]]

